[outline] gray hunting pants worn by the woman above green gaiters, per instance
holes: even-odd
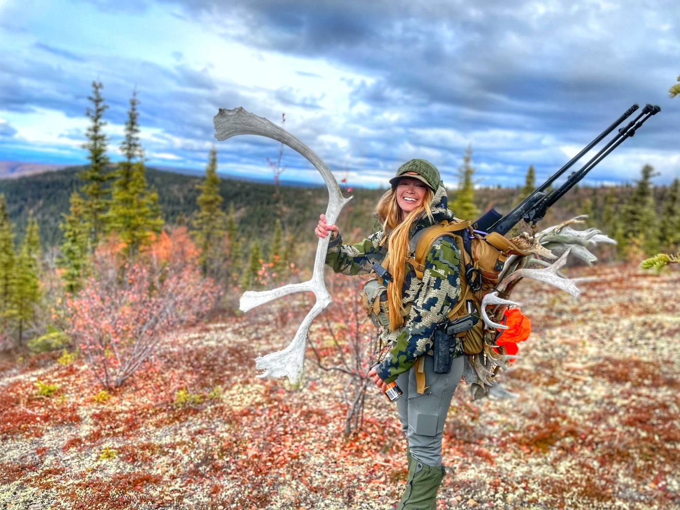
[[[411,455],[428,466],[441,466],[441,437],[451,399],[463,374],[463,357],[454,358],[451,372],[432,371],[432,356],[425,356],[425,392],[419,395],[415,367],[396,379],[403,395],[396,401],[399,421],[409,440]]]

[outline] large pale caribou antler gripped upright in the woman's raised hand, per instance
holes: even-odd
[[[220,141],[236,135],[260,135],[285,143],[288,147],[305,156],[319,171],[324,178],[324,182],[326,182],[326,187],[328,188],[326,222],[328,224],[335,223],[341,209],[352,197],[345,199],[342,196],[340,186],[338,186],[335,177],[333,177],[333,173],[330,173],[326,164],[309,147],[285,129],[273,124],[266,118],[246,112],[241,107],[236,109],[220,108],[220,112],[213,120],[215,124],[215,137]],[[330,236],[319,239],[316,246],[313,274],[308,282],[285,285],[262,292],[243,292],[240,303],[241,310],[243,311],[248,311],[253,307],[292,294],[293,292],[311,291],[316,296],[316,303],[307,313],[302,324],[300,324],[290,345],[284,350],[272,352],[255,360],[256,367],[263,371],[258,377],[288,377],[293,384],[298,383],[302,378],[303,364],[305,362],[305,342],[307,341],[309,326],[311,326],[316,316],[330,303],[330,295],[326,290],[324,282],[324,262],[326,260],[328,241],[330,241]]]

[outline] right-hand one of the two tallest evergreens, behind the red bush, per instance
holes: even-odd
[[[158,233],[163,228],[158,194],[150,190],[146,182],[137,105],[137,91],[133,91],[125,122],[125,136],[120,144],[124,160],[118,163],[116,169],[111,207],[106,216],[108,230],[116,232],[125,243],[130,257],[148,243],[152,232]]]

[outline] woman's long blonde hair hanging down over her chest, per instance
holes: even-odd
[[[388,190],[378,202],[375,209],[379,222],[382,223],[382,228],[385,233],[383,243],[388,243],[388,265],[386,269],[392,275],[392,282],[387,285],[388,298],[388,316],[390,318],[390,330],[394,331],[396,328],[404,324],[404,307],[401,304],[402,287],[404,286],[404,278],[407,271],[407,258],[409,257],[409,233],[411,224],[422,216],[423,212],[427,214],[431,222],[432,210],[430,209],[430,202],[434,197],[435,192],[430,188],[426,188],[425,196],[422,203],[415,207],[406,218],[401,218],[401,207],[396,202],[396,188]]]

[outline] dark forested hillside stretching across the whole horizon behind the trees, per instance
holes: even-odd
[[[5,195],[7,212],[14,227],[16,239],[26,229],[29,213],[37,220],[39,234],[44,247],[59,245],[63,233],[58,225],[69,211],[69,197],[73,190],[82,186],[78,173],[83,167],[70,167],[17,179],[0,180],[0,193]],[[194,177],[170,171],[146,169],[150,188],[158,192],[158,205],[167,224],[191,224],[197,207],[201,177]],[[626,202],[634,190],[626,186],[591,188],[576,186],[549,210],[540,224],[554,224],[580,214],[590,216],[589,224],[613,235],[611,222],[620,217]],[[318,214],[326,209],[328,192],[325,188],[296,186],[275,186],[233,179],[222,179],[219,183],[222,209],[227,212],[233,207],[239,235],[246,239],[258,237],[268,239],[273,235],[275,220],[279,219],[286,233],[311,237],[311,228]],[[375,204],[384,190],[369,190],[354,187],[352,201],[345,206],[339,224],[346,229],[360,228],[367,234],[376,226],[373,218]],[[680,208],[676,203],[677,190],[668,186],[649,189],[656,205],[657,216]],[[675,194],[674,194],[675,193]],[[473,201],[479,211],[495,207],[501,213],[509,211],[522,196],[520,188],[498,188],[495,186],[477,188]],[[454,203],[456,192],[449,192],[449,204]],[[670,203],[669,203],[670,201]],[[262,243],[266,245],[265,243]]]

